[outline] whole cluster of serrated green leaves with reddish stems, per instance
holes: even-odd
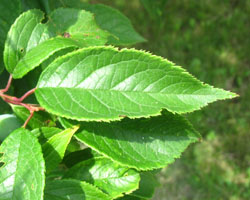
[[[11,74],[0,90],[11,113],[0,117],[0,199],[149,199],[158,169],[200,140],[182,114],[236,96],[114,47],[146,40],[113,8],[2,0],[0,10],[3,88]]]

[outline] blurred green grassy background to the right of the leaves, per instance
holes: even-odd
[[[186,115],[203,140],[162,170],[154,200],[250,199],[250,0],[91,2],[131,19],[148,40],[136,48],[240,95]]]

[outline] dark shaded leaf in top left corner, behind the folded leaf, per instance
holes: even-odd
[[[3,47],[10,26],[21,13],[20,0],[1,0],[0,3],[0,74],[4,69]]]

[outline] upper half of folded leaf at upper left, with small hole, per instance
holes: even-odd
[[[4,63],[9,73],[30,49],[49,38],[46,26],[40,23],[43,18],[42,11],[29,10],[11,26],[4,49]]]

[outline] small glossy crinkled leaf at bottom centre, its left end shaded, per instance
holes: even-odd
[[[65,178],[92,183],[112,198],[136,190],[140,181],[137,171],[122,167],[107,158],[94,158],[78,163],[68,171]]]

